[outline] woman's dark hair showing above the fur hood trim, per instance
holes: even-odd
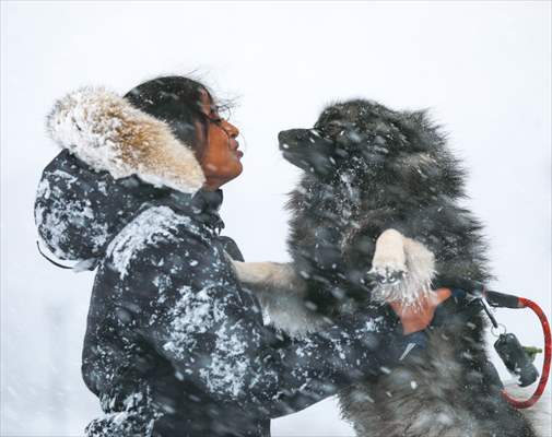
[[[209,117],[202,110],[201,94],[214,99],[205,85],[192,79],[171,75],[152,79],[134,86],[125,98],[136,108],[165,121],[173,133],[201,157],[204,144],[198,141],[197,122],[207,134]]]

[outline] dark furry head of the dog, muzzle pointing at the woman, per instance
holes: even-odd
[[[313,128],[280,132],[279,142],[290,163],[321,180],[347,172],[349,181],[351,176],[360,184],[381,181],[403,192],[462,192],[463,173],[424,110],[395,111],[363,99],[338,103]]]

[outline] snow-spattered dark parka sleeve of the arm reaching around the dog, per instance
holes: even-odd
[[[379,370],[390,334],[373,320],[340,320],[324,334],[273,347],[252,297],[216,245],[190,234],[175,248],[157,243],[133,257],[122,304],[176,376],[220,402],[278,416]],[[376,352],[377,351],[377,352]],[[295,406],[286,399],[307,393]],[[308,399],[308,400],[306,400]]]

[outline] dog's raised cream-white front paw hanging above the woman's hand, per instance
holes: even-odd
[[[387,229],[376,241],[371,273],[375,298],[416,305],[431,293],[435,257],[421,243]]]

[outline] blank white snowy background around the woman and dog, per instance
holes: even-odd
[[[297,172],[278,152],[279,130],[312,126],[334,99],[430,107],[470,169],[495,290],[550,315],[550,2],[2,2],[2,436],[79,436],[99,413],[80,377],[93,275],[57,269],[35,247],[35,189],[58,152],[45,115],[81,85],[125,93],[190,72],[237,98],[245,172],[225,189],[223,217],[246,259],[289,259],[283,203]],[[541,343],[528,311],[497,316]],[[352,435],[333,399],[275,420],[272,433]]]

